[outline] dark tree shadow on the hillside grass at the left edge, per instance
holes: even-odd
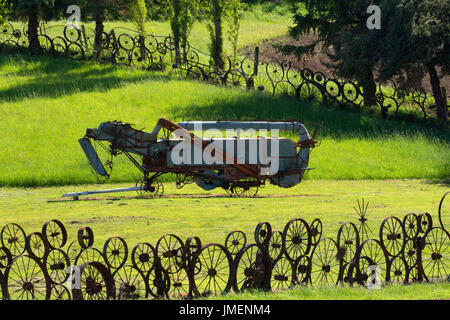
[[[1,89],[0,102],[18,102],[27,97],[56,98],[78,92],[104,92],[145,80],[169,80],[169,73],[149,72],[127,66],[75,61],[62,57],[0,55],[0,74],[11,65],[8,77],[20,79],[17,85]]]

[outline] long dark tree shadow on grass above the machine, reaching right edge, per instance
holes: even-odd
[[[254,94],[233,95],[229,99],[218,97],[208,105],[189,105],[170,108],[169,113],[177,119],[217,120],[276,120],[298,121],[311,132],[321,125],[319,137],[385,139],[393,135],[423,135],[450,143],[450,130],[433,129],[421,123],[386,120],[359,111],[341,110],[331,105],[294,98]]]

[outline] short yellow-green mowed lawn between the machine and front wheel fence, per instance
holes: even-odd
[[[205,192],[193,185],[178,190],[174,183],[165,184],[166,195],[160,199],[138,199],[134,193],[82,197],[80,201],[60,198],[65,192],[124,186],[127,184],[0,188],[0,226],[19,223],[28,234],[40,231],[50,219],[59,219],[68,230],[66,247],[76,241],[80,227],[90,226],[96,248],[101,249],[111,236],[121,236],[131,250],[139,242],[155,245],[165,233],[176,234],[183,241],[198,236],[203,244],[224,244],[229,232],[241,230],[247,243],[254,243],[254,230],[260,221],[282,231],[290,219],[303,218],[311,223],[320,218],[323,237],[336,239],[342,223],[359,225],[353,207],[364,197],[369,202],[370,236],[378,238],[380,224],[389,216],[429,212],[438,226],[439,201],[448,190],[448,183],[442,180],[308,180],[288,190],[267,186],[257,198],[224,197],[221,190]],[[447,228],[449,209],[447,206],[443,211]],[[389,285],[381,290],[296,287],[276,294],[246,292],[209,299],[450,299],[450,283]]]

